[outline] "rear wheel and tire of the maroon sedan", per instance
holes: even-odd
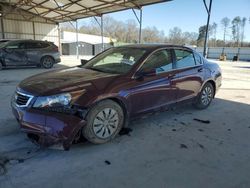
[[[200,94],[198,95],[198,98],[194,103],[194,106],[198,109],[206,109],[213,100],[214,92],[215,91],[213,85],[207,82],[203,86]]]

